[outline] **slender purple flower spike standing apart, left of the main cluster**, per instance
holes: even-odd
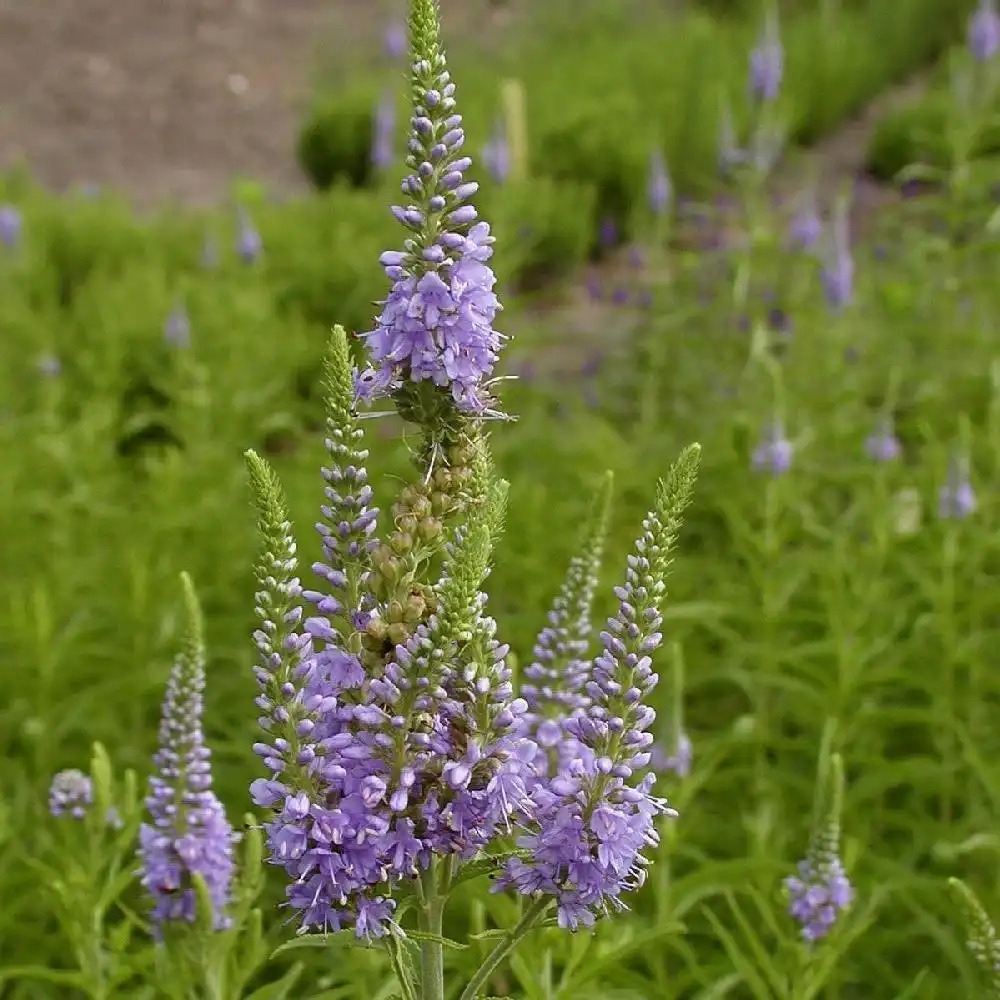
[[[195,875],[204,879],[216,928],[228,923],[233,876],[233,828],[212,791],[211,753],[202,732],[205,647],[201,609],[190,578],[183,576],[185,632],[167,681],[160,747],[149,779],[146,808],[152,820],[139,831],[142,884],[153,899],[159,930],[196,917]]]

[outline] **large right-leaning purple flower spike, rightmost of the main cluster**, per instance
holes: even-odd
[[[618,613],[601,633],[603,652],[586,692],[591,704],[567,723],[581,752],[549,781],[532,786],[538,827],[518,841],[521,857],[508,863],[498,888],[552,895],[561,926],[592,924],[621,895],[645,881],[645,847],[658,843],[657,815],[676,815],[652,794],[648,770],[656,713],[644,700],[656,685],[651,653],[662,642],[660,605],[681,516],[691,500],[700,448],[687,448],[660,483],[628,559],[625,584],[615,590]]]

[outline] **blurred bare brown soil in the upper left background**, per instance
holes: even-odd
[[[392,0],[0,0],[0,169],[46,186],[205,205],[234,175],[304,187],[296,126],[313,73],[380,57]],[[498,28],[445,0],[449,34]]]

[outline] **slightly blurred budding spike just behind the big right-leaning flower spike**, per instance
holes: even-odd
[[[611,510],[614,476],[608,472],[593,503],[580,539],[579,554],[569,563],[566,579],[539,633],[525,668],[521,694],[528,703],[526,721],[543,747],[564,739],[563,722],[585,708],[583,693],[590,673],[591,606],[597,589]]]

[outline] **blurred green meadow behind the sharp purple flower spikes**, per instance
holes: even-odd
[[[615,506],[601,616],[655,477],[689,441],[704,449],[659,660],[662,746],[686,733],[694,748],[690,774],[662,778],[680,818],[629,914],[594,935],[539,932],[498,995],[986,995],[946,886],[967,880],[1000,914],[1000,63],[966,51],[972,7],[784,5],[774,111],[788,144],[760,189],[718,171],[722,109],[740,143],[755,125],[756,4],[553,0],[495,46],[450,41],[519,376],[504,389],[518,420],[493,434],[511,516],[491,593],[522,663],[602,473]],[[139,213],[114,191],[46,192],[30,164],[0,183],[3,1000],[140,995],[127,977],[100,992],[37,973],[76,961],[38,864],[56,850],[54,771],[85,767],[100,740],[144,780],[182,570],[207,622],[217,785],[234,819],[249,807],[242,455],[273,462],[305,541],[326,335],[369,328],[378,255],[399,240],[386,206],[401,168],[373,162],[372,143],[387,136],[399,160],[405,89],[378,46],[323,50],[288,151],[314,193],[245,179],[209,211]],[[880,114],[858,153],[877,197],[862,198],[868,178],[814,185],[824,143],[913,74],[919,94]],[[478,166],[498,135],[506,169]],[[657,153],[665,211],[648,192]],[[837,303],[823,273],[848,203],[853,294]],[[804,247],[790,227],[813,206],[823,226]],[[759,452],[779,430],[787,469]],[[378,493],[405,473],[407,442],[389,421],[370,433]],[[965,485],[974,505],[942,505]],[[809,978],[781,880],[806,848],[821,745],[845,763],[857,899]],[[467,895],[456,925],[512,912]],[[143,905],[132,887],[107,920],[128,928]],[[275,908],[275,945],[283,920]],[[378,952],[331,942],[272,971],[299,961],[289,995],[392,992]]]

